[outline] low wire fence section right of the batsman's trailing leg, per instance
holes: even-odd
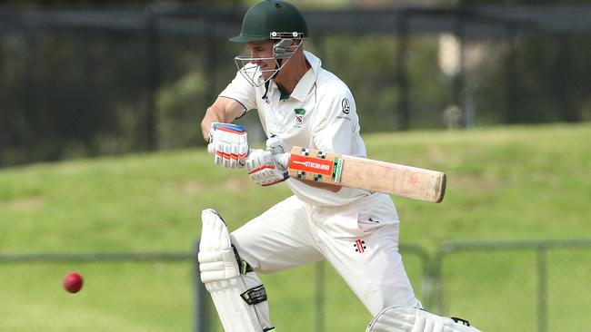
[[[590,249],[590,239],[445,244],[437,310],[483,331],[586,330]]]

